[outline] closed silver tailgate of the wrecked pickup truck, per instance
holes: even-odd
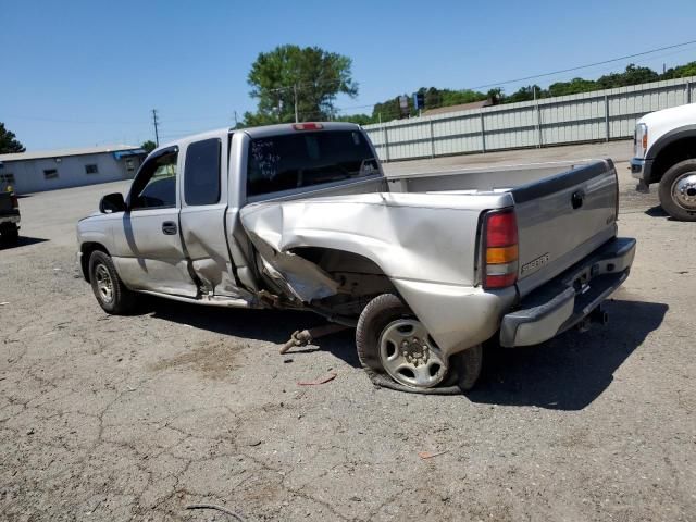
[[[521,296],[616,236],[618,190],[611,160],[596,161],[512,190]]]

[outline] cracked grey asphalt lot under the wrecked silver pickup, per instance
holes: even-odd
[[[0,251],[0,519],[696,520],[696,224],[618,169],[638,250],[609,325],[488,350],[468,397],[373,388],[351,332],[279,356],[307,314],[144,299],[109,316],[75,276],[74,223],[126,184],[23,198],[21,246]]]

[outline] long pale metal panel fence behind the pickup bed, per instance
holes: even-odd
[[[623,139],[637,119],[696,102],[696,76],[365,125],[383,161]]]

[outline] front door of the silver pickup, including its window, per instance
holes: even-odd
[[[114,262],[133,289],[195,297],[179,231],[178,157],[176,147],[160,150],[138,171],[114,227]]]

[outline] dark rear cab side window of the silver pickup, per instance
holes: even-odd
[[[214,204],[220,201],[220,150],[217,138],[190,144],[184,166],[186,204]]]

